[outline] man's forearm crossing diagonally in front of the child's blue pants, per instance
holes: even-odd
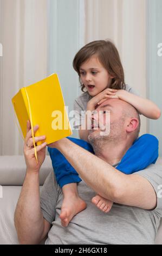
[[[119,172],[99,157],[64,138],[56,148],[72,164],[76,172],[96,193],[115,202],[120,181],[125,174]]]

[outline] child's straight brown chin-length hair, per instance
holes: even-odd
[[[73,60],[73,68],[80,78],[80,66],[90,57],[96,55],[100,63],[113,76],[112,83],[109,88],[125,89],[124,70],[122,68],[120,56],[113,42],[109,40],[98,40],[89,42],[76,53]],[[80,80],[81,83],[81,80]],[[81,90],[84,92],[85,86],[81,83]]]

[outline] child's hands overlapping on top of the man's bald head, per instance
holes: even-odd
[[[107,88],[103,90],[98,95],[94,96],[91,100],[87,103],[87,110],[93,111],[96,107],[96,105],[100,105],[102,102],[104,102],[107,99],[118,99],[118,96],[116,95],[116,92],[118,90]]]

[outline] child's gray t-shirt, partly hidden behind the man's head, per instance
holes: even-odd
[[[125,90],[129,93],[133,93],[135,95],[139,95],[135,90],[126,84]],[[85,119],[85,112],[87,109],[88,101],[92,99],[88,93],[82,93],[79,97],[74,100],[74,111],[75,111],[75,124],[74,128],[78,129],[81,124],[83,124],[83,120]]]

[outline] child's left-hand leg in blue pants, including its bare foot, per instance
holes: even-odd
[[[94,154],[93,148],[89,143],[82,141],[81,139],[69,139]],[[71,166],[59,150],[48,148],[48,151],[53,164],[56,181],[63,191],[64,199],[60,218],[62,225],[67,227],[70,220],[72,220],[77,213],[86,208],[86,203],[77,194],[77,182],[80,182],[81,179],[73,166]]]

